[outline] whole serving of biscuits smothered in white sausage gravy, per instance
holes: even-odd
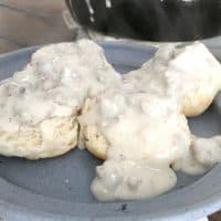
[[[0,154],[39,159],[86,146],[105,160],[92,182],[98,200],[155,197],[176,186],[177,170],[221,161],[221,136],[197,137],[186,118],[220,90],[221,64],[199,42],[164,45],[123,77],[92,41],[44,46],[0,82]]]

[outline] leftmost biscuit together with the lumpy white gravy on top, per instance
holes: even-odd
[[[76,147],[84,99],[119,81],[91,41],[40,49],[23,71],[0,83],[0,154],[39,159]]]

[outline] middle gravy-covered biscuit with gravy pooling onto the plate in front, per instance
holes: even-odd
[[[92,101],[80,124],[90,151],[107,152],[92,183],[99,200],[145,199],[176,185],[170,165],[187,155],[191,143],[176,99],[109,90]]]

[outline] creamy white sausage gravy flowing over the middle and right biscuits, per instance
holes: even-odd
[[[206,63],[194,64],[194,55]],[[200,43],[181,49],[169,44],[125,75],[119,87],[96,97],[81,123],[95,125],[109,144],[92,183],[97,199],[147,199],[175,187],[175,170],[201,173],[221,161],[221,137],[194,137],[181,114],[183,96],[221,74],[218,64]]]

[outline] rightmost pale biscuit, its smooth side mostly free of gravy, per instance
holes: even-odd
[[[169,63],[166,75],[172,93],[180,93],[182,113],[192,117],[207,110],[221,90],[221,64],[202,43],[182,50]]]

